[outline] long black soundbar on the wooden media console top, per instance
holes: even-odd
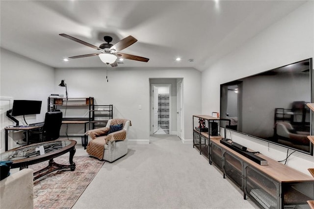
[[[227,147],[233,149],[235,152],[241,154],[244,157],[249,158],[250,160],[252,160],[252,161],[254,161],[260,165],[268,165],[267,160],[263,159],[262,157],[258,157],[251,152],[248,152],[246,150],[246,147],[244,147],[238,143],[229,142],[228,139],[220,139],[220,143],[223,145],[226,145]]]

